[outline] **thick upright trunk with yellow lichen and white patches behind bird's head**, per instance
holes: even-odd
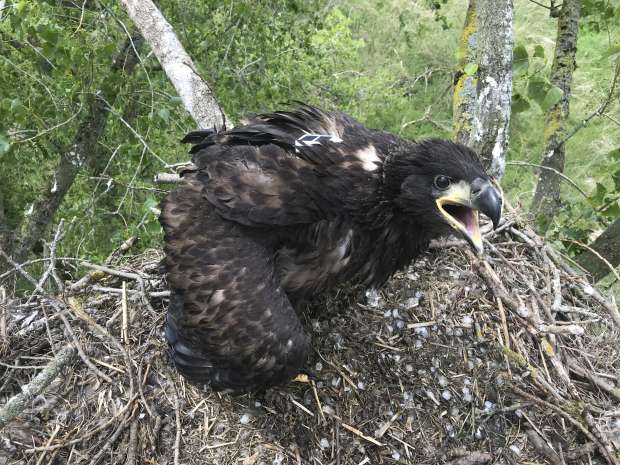
[[[470,0],[452,100],[454,139],[504,174],[512,96],[512,0]]]

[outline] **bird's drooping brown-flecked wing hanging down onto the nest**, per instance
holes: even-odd
[[[284,382],[303,365],[309,341],[271,253],[213,211],[200,176],[188,175],[162,203],[172,358],[188,379],[214,389]]]

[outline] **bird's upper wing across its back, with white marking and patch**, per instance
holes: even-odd
[[[206,197],[248,226],[314,223],[375,204],[382,164],[397,139],[343,113],[312,107],[250,117],[215,134],[190,133]]]

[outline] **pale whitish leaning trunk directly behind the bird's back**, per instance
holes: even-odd
[[[232,124],[209,85],[200,77],[172,26],[151,0],[122,0],[129,17],[151,46],[183,105],[202,129]]]

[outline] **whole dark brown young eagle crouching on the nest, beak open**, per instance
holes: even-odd
[[[250,392],[283,385],[311,351],[300,302],[335,286],[380,288],[432,239],[482,253],[502,192],[470,148],[370,129],[298,104],[198,130],[192,165],[162,201],[169,353],[189,381]]]

